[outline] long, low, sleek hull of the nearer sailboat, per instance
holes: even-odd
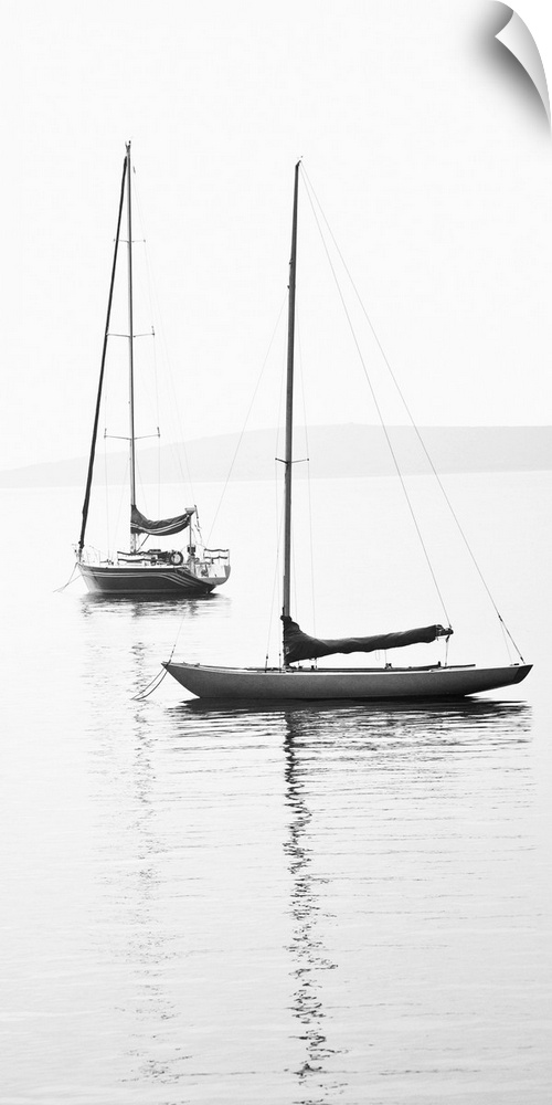
[[[521,683],[531,664],[507,667],[263,669],[163,665],[199,698],[458,698]]]

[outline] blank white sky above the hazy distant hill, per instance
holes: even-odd
[[[298,157],[417,423],[550,423],[552,143],[495,8],[4,0],[0,469],[87,452],[129,137],[185,436],[244,424]],[[516,11],[550,86],[550,2]],[[308,415],[375,421],[318,302]]]

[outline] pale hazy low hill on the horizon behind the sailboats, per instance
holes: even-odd
[[[401,471],[424,473],[427,459],[411,427],[388,428]],[[552,469],[552,427],[423,427],[420,434],[439,473],[517,472]],[[296,456],[308,453],[310,476],[347,477],[391,475],[394,462],[381,427],[316,425],[296,431]],[[308,441],[308,445],[306,444]],[[142,483],[157,483],[159,463],[166,483],[182,482],[182,467],[194,483],[233,480],[268,480],[274,475],[275,457],[283,455],[283,434],[276,430],[251,430],[240,435],[201,438],[185,445],[145,449],[139,456]],[[181,461],[178,455],[180,452]],[[184,464],[184,455],[187,463]],[[127,453],[109,457],[109,482],[123,483]],[[86,478],[85,456],[66,461],[44,461],[25,467],[0,472],[1,487],[53,487],[82,484]],[[98,457],[97,473],[103,470]],[[306,474],[298,463],[296,475]]]

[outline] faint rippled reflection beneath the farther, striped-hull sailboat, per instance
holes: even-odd
[[[172,606],[91,594],[81,604],[93,684],[87,725],[103,853],[98,924],[107,934],[124,1029],[118,1057],[125,1083],[146,1094],[181,1076],[180,1009],[173,998],[181,933],[168,907],[170,810],[160,789],[159,718],[152,722],[149,705],[130,696],[151,675],[150,638],[159,634],[159,619],[167,623]],[[191,618],[199,610],[195,600],[187,603]],[[181,620],[182,603],[174,603],[174,614]]]

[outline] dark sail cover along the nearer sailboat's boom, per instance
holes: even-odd
[[[438,636],[449,636],[452,629],[443,625],[424,625],[401,633],[380,633],[375,636],[344,636],[337,640],[320,640],[302,633],[297,622],[284,617],[284,663],[295,664],[299,660],[316,660],[331,656],[337,652],[375,652],[385,649],[403,649],[407,644],[429,644]]]

